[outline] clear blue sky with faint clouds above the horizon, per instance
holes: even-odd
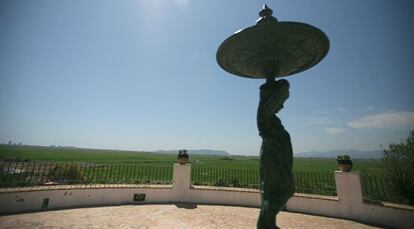
[[[295,152],[375,150],[408,136],[408,0],[0,0],[0,142],[258,155],[263,81],[226,73],[215,55],[264,3],[331,42],[321,63],[287,78],[280,117]]]

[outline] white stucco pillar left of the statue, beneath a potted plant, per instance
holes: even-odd
[[[173,171],[173,196],[174,201],[190,202],[191,164],[174,164]]]

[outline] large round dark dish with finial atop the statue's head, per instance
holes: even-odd
[[[266,5],[257,24],[235,32],[218,48],[216,59],[227,72],[269,79],[303,72],[328,53],[329,39],[320,29],[300,22],[279,22]]]

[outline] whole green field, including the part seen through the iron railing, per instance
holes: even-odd
[[[0,145],[0,187],[59,184],[171,183],[175,154],[81,149],[69,147]],[[258,156],[190,155],[194,185],[259,188]],[[390,200],[379,160],[353,160],[360,171],[364,195]],[[336,195],[334,159],[293,160],[297,192]],[[18,171],[18,172],[15,172]],[[19,172],[24,171],[24,172]],[[384,186],[385,185],[385,186]]]

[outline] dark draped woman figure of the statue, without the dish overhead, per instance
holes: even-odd
[[[260,149],[260,191],[262,208],[257,228],[278,228],[276,215],[294,193],[293,152],[290,135],[276,116],[289,97],[289,82],[268,79],[260,86],[257,126]]]

